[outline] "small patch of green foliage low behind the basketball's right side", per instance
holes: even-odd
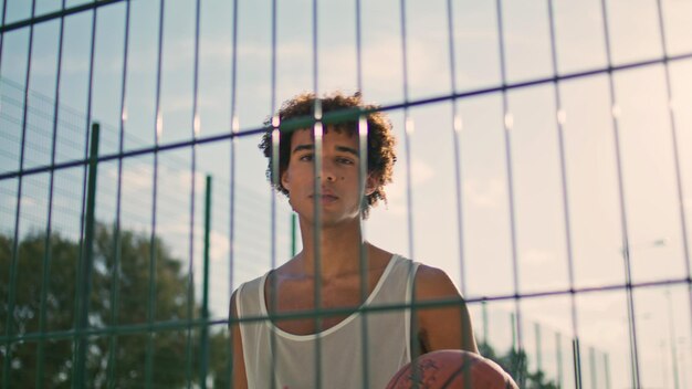
[[[558,389],[557,383],[545,378],[545,372],[542,370],[528,371],[526,364],[526,353],[517,353],[515,349],[510,349],[504,355],[499,355],[495,349],[486,344],[481,343],[479,345],[479,351],[485,358],[494,360],[505,371],[507,371],[517,382],[518,378],[523,377],[525,389]]]

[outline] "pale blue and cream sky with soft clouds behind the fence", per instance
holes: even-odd
[[[67,1],[67,7],[81,3],[83,1]],[[101,154],[106,155],[118,149],[120,117],[125,119],[125,150],[154,145],[157,134],[159,144],[188,140],[196,130],[197,136],[202,137],[228,134],[232,128],[233,106],[238,129],[242,132],[261,127],[281,102],[313,91],[315,81],[321,94],[335,90],[353,93],[360,88],[366,101],[391,105],[452,92],[551,78],[556,73],[574,74],[601,70],[609,64],[692,53],[691,1],[661,1],[663,29],[658,19],[657,1],[607,1],[609,45],[600,1],[554,1],[556,51],[553,55],[546,1],[502,1],[501,35],[496,2],[465,0],[451,2],[454,66],[451,69],[447,1],[403,3],[406,53],[400,2],[363,2],[361,61],[358,63],[355,2],[319,1],[315,70],[312,1],[277,2],[275,57],[272,59],[271,1],[239,0],[235,62],[232,2],[200,1],[198,109],[195,111],[196,2],[167,0],[158,115],[159,2],[132,2],[124,112],[120,112],[120,99],[125,3],[99,8],[95,29],[91,12],[67,17],[59,88],[61,120],[56,160],[67,161],[84,155],[84,127],[90,109],[91,117],[104,127]],[[29,6],[28,1],[8,1],[6,24],[29,18]],[[60,1],[56,0],[36,1],[36,14],[57,8]],[[92,32],[95,51],[90,94]],[[41,23],[33,30],[31,55],[29,36],[28,28],[3,35],[0,134],[9,141],[0,145],[0,174],[19,166],[22,91],[27,83],[31,94],[27,108],[30,130],[24,167],[50,162],[60,20]],[[500,36],[503,38],[502,53]],[[234,102],[233,63],[237,64]],[[272,63],[275,63],[274,86]],[[667,76],[670,88],[667,88]],[[377,207],[366,222],[367,236],[389,251],[443,269],[472,301],[515,292],[569,288],[569,259],[575,287],[622,284],[625,234],[629,241],[632,282],[684,278],[690,261],[685,259],[684,243],[692,241],[691,227],[686,235],[681,228],[683,218],[688,225],[692,219],[691,91],[692,62],[680,60],[667,66],[656,63],[618,71],[611,76],[599,73],[559,84],[510,90],[506,105],[503,94],[495,92],[416,106],[406,112],[391,111],[399,160],[394,182],[387,188],[387,204]],[[405,132],[407,118],[412,124],[408,135]],[[198,146],[195,171],[190,169],[191,148],[160,154],[157,231],[171,242],[180,257],[189,257],[190,251],[193,253],[198,275],[203,176],[213,177],[210,287],[217,317],[227,315],[227,302],[234,286],[263,274],[291,254],[290,209],[283,197],[272,195],[269,189],[258,140],[256,136],[241,136],[234,145],[219,141]],[[409,141],[410,155],[405,153],[406,141]],[[458,154],[454,143],[460,150]],[[233,181],[231,150],[235,153]],[[410,161],[410,171],[406,169],[407,161]],[[123,219],[126,225],[141,231],[151,228],[153,162],[151,156],[128,158],[124,162]],[[112,220],[117,166],[104,165],[98,182],[97,217]],[[459,198],[457,168],[461,178]],[[55,220],[64,231],[72,233],[78,225],[75,210],[81,204],[81,191],[74,182],[80,180],[81,174],[81,169],[56,174],[60,195],[54,200],[59,214]],[[409,180],[410,210],[406,206]],[[232,282],[229,282],[231,185],[237,192],[235,265]],[[46,188],[48,175],[25,180],[22,231],[45,224]],[[0,228],[11,231],[17,180],[0,181]],[[189,211],[192,204],[193,221]],[[272,204],[276,207],[274,255]],[[461,231],[457,217],[459,206]],[[413,220],[412,242],[408,238],[409,211]],[[191,222],[196,234],[192,249],[186,238]],[[514,257],[518,264],[516,284]],[[642,385],[672,387],[673,343],[677,361],[692,367],[689,292],[680,284],[638,288],[633,295]],[[629,340],[625,292],[583,293],[575,301],[576,328],[583,344],[609,356],[614,388],[627,387]],[[525,298],[520,307],[525,322],[522,338],[527,350],[536,344],[537,324],[544,328],[542,334],[562,334],[564,353],[570,355],[569,338],[575,326],[569,296]],[[471,304],[471,308],[476,333],[484,336],[481,306]],[[514,303],[491,303],[489,308],[492,312],[489,336],[508,347],[508,315],[515,308]],[[556,355],[556,346],[551,344],[553,340],[546,340],[554,336],[545,335],[542,339],[543,362],[547,364],[546,368],[555,369],[555,358],[548,356]],[[587,346],[583,350],[585,358]],[[534,358],[531,364],[537,360]],[[600,369],[598,364],[594,366]],[[584,369],[588,375],[593,367],[585,364]],[[556,369],[551,371],[554,376],[557,374]],[[686,375],[686,370],[681,372],[680,379],[692,382],[692,377]],[[598,379],[602,376],[601,371]]]

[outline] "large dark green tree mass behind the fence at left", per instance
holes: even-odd
[[[8,314],[14,336],[40,333],[42,326],[49,333],[44,341],[32,338],[12,343],[9,348],[6,343],[0,345],[0,362],[7,358],[8,350],[11,351],[10,386],[13,388],[34,387],[39,381],[49,388],[66,388],[72,383],[75,338],[65,334],[75,328],[80,250],[78,242],[60,233],[52,233],[50,240],[42,232],[22,236],[17,256],[14,304],[9,312],[13,240],[0,234],[0,336],[6,335]],[[119,261],[116,262],[116,257]],[[153,278],[151,257],[156,269]],[[151,240],[149,234],[126,230],[116,234],[105,224],[96,227],[93,259],[90,327],[116,330],[90,337],[86,385],[94,388],[141,386],[146,382],[147,367],[150,368],[148,377],[157,387],[177,388],[185,387],[189,380],[197,381],[199,330],[191,332],[191,348],[188,349],[187,327],[156,327],[149,332],[144,326],[150,308],[157,324],[186,323],[190,312],[198,316],[199,307],[188,293],[182,262],[171,255],[159,238]],[[224,351],[227,338],[224,332],[211,334],[212,356],[221,358],[228,354]],[[226,362],[212,360],[211,364],[211,376],[221,383]]]

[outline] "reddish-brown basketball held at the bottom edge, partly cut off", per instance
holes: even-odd
[[[497,364],[473,353],[439,350],[403,366],[387,389],[518,389]]]

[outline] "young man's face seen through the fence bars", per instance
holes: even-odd
[[[318,172],[321,197],[315,193],[315,149],[311,129],[296,130],[291,139],[289,167],[281,183],[289,190],[293,210],[314,222],[315,201],[322,204],[324,227],[360,217],[364,195],[375,190],[375,180],[366,179],[365,193],[358,193],[358,137],[347,132],[327,128],[322,143],[322,171]]]

